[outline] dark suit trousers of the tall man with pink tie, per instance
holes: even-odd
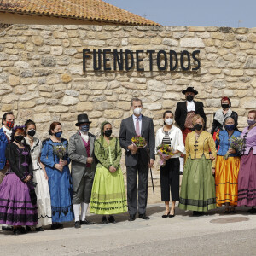
[[[146,213],[148,201],[148,166],[126,166],[127,203],[130,215]],[[138,188],[137,188],[138,177]],[[138,194],[138,210],[137,210]]]

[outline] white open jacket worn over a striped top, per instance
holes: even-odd
[[[186,154],[186,150],[184,147],[184,143],[183,143],[183,133],[182,131],[177,128],[176,126],[172,125],[172,128],[170,131],[168,131],[170,140],[171,140],[171,148],[173,148],[173,150],[178,150],[180,151],[182,154]],[[165,131],[164,128],[160,128],[156,131],[156,135],[155,135],[155,154],[157,153],[156,148],[162,144],[163,138],[165,137]],[[180,157],[180,153],[179,154],[174,154],[172,156],[172,158],[177,158]]]

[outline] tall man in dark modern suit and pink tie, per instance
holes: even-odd
[[[139,218],[149,219],[146,215],[148,201],[148,167],[154,165],[154,124],[153,120],[143,116],[143,102],[134,98],[131,100],[133,114],[123,119],[120,126],[120,145],[125,149],[125,165],[127,177],[127,202],[130,221]],[[131,138],[144,137],[145,148],[137,148]],[[137,176],[138,176],[138,209],[137,209]]]

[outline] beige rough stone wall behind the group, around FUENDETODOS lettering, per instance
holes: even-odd
[[[83,49],[200,49],[201,68],[84,73]],[[14,25],[0,34],[0,114],[13,110],[19,124],[33,119],[42,138],[50,122],[59,120],[68,138],[77,115],[88,113],[92,132],[99,135],[100,123],[108,119],[118,136],[133,96],[143,99],[143,113],[154,118],[156,130],[162,113],[175,110],[181,91],[194,86],[208,128],[221,96],[230,96],[242,127],[247,111],[256,108],[255,73],[256,28]]]

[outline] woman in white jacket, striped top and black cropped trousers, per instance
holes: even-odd
[[[163,114],[164,126],[156,132],[155,147],[168,144],[173,148],[174,155],[166,160],[166,165],[160,166],[161,201],[165,201],[166,212],[162,218],[175,216],[175,203],[179,201],[179,157],[185,154],[182,131],[173,125],[173,113],[167,110]],[[157,150],[155,150],[157,151]],[[169,208],[170,189],[172,194],[172,207]]]

